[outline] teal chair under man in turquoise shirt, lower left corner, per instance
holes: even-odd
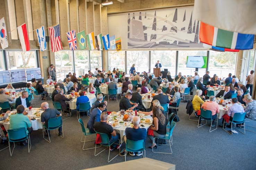
[[[9,138],[9,150],[10,150],[10,155],[12,156],[13,150],[15,148],[15,142],[21,142],[24,140],[27,140],[28,142],[28,153],[30,152],[31,149],[31,142],[30,142],[30,136],[29,133],[27,134],[27,129],[25,127],[19,128],[19,129],[9,129],[7,131],[8,133],[8,138]],[[14,148],[11,151],[11,145],[10,142],[14,143]]]

